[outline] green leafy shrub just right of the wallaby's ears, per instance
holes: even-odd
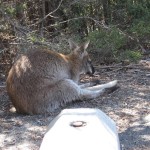
[[[115,27],[110,30],[95,30],[89,33],[91,49],[98,52],[102,60],[116,59],[120,49],[126,44],[126,37]]]

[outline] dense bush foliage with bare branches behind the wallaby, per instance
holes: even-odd
[[[0,18],[1,51],[9,40],[17,49],[47,41],[55,47],[64,41],[58,37],[90,39],[90,52],[102,61],[136,61],[150,49],[149,0],[1,0]]]

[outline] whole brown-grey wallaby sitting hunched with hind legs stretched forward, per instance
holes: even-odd
[[[43,114],[76,100],[100,96],[117,81],[89,87],[79,85],[80,74],[94,73],[88,52],[89,41],[77,45],[69,41],[70,54],[32,49],[21,55],[7,77],[8,95],[18,113]]]

